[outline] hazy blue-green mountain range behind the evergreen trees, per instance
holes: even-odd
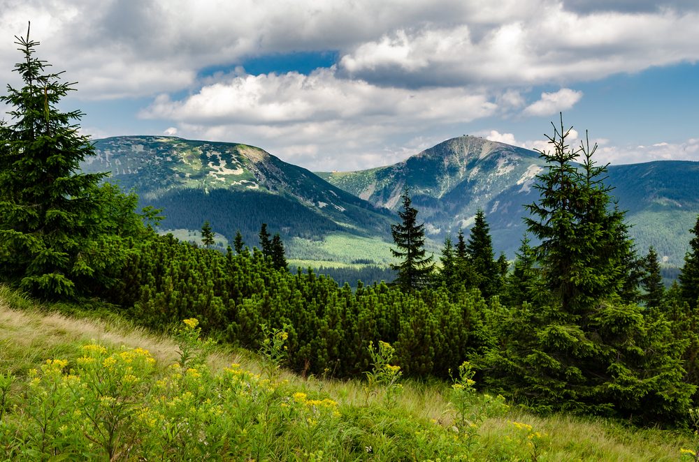
[[[545,165],[535,151],[473,136],[386,167],[317,174],[246,144],[136,136],[96,140],[95,148],[83,170],[110,171],[142,204],[164,208],[168,230],[194,236],[208,220],[229,240],[240,230],[252,246],[264,222],[282,234],[290,258],[326,263],[391,261],[389,225],[406,187],[428,248],[466,232],[483,209],[494,248],[512,258],[525,230],[523,204],[538,198]],[[699,214],[699,163],[610,165],[607,175],[639,253],[652,245],[665,265],[681,266]]]

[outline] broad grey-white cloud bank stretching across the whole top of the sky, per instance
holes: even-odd
[[[699,59],[696,2],[587,3],[6,0],[0,73],[27,20],[42,55],[90,98],[196,88],[203,69],[299,51],[336,50],[348,75],[413,88],[565,84]]]

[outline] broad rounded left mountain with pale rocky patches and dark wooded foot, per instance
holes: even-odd
[[[245,144],[178,137],[112,137],[95,142],[85,172],[110,171],[142,204],[165,209],[164,228],[199,230],[210,221],[231,241],[241,230],[257,244],[261,223],[284,237],[384,236],[386,209],[336,188],[315,174]]]

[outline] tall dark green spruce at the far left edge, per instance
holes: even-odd
[[[106,174],[80,172],[94,147],[78,133],[82,112],[58,107],[73,84],[34,56],[29,29],[15,38],[23,86],[0,96],[10,107],[0,125],[0,278],[41,297],[73,297],[99,285],[119,253],[102,235]]]

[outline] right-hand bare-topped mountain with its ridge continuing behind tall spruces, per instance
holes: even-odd
[[[319,173],[345,191],[396,210],[410,187],[413,202],[437,241],[473,224],[482,208],[497,251],[512,258],[525,227],[524,204],[538,193],[533,184],[544,162],[538,153],[480,137],[447,140],[406,161],[359,172]],[[699,213],[699,163],[659,161],[612,165],[606,184],[627,220],[640,253],[653,245],[665,264],[681,266],[689,228]]]

